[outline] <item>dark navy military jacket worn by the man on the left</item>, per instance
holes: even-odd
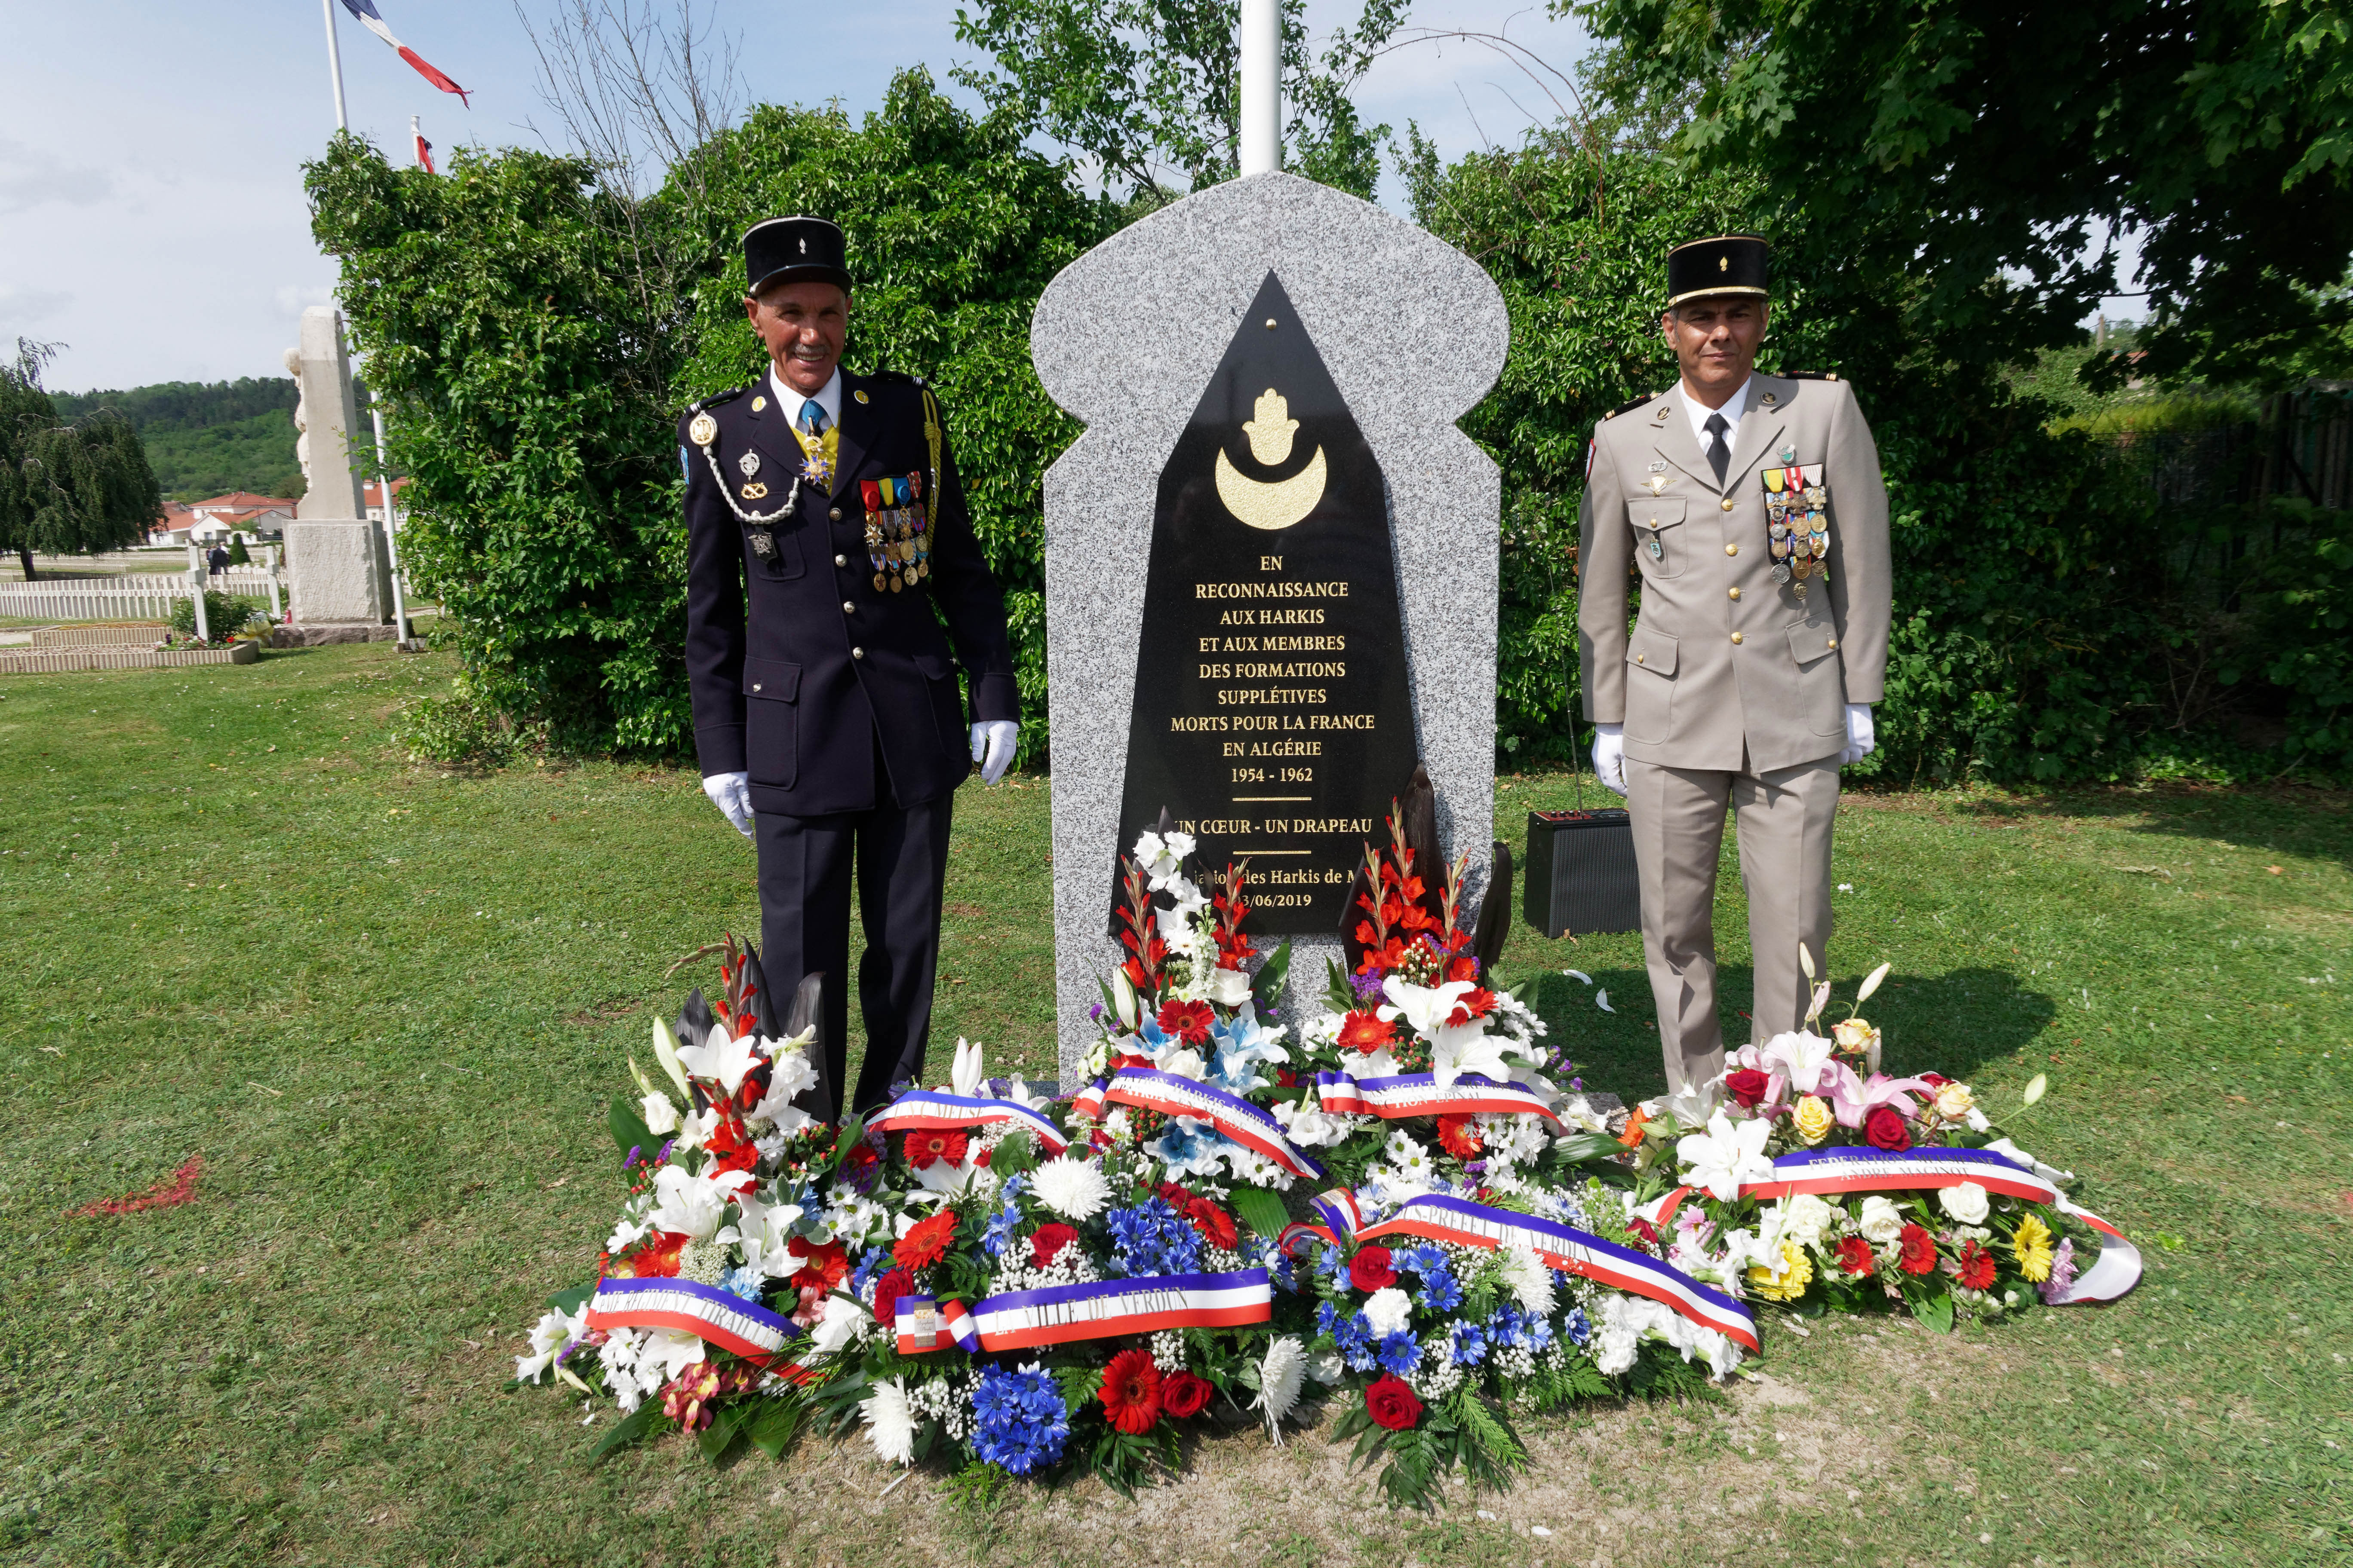
[[[689,440],[708,411],[718,437]],[[885,799],[915,806],[972,771],[955,661],[972,682],[969,722],[1019,719],[1005,595],[981,557],[965,487],[941,435],[939,496],[922,386],[842,371],[833,484],[802,484],[800,505],[769,524],[767,557],[729,510],[784,508],[800,442],[762,376],[678,421],[687,468],[687,684],[701,771],[751,773],[755,811],[826,816]],[[744,473],[744,454],[758,454]],[[718,475],[713,475],[713,463]],[[929,559],[922,581],[875,588],[864,480],[922,475]],[[720,494],[720,484],[729,494]],[[744,498],[765,484],[760,498]],[[878,748],[880,743],[880,748]],[[885,778],[875,778],[880,750]]]

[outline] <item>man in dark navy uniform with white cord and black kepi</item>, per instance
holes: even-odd
[[[866,1063],[847,1105],[864,1112],[922,1070],[948,804],[969,762],[986,783],[1005,773],[1021,717],[1005,595],[936,397],[915,376],[840,369],[845,261],[824,219],[746,233],[744,313],[769,371],[678,421],[694,750],[704,792],[760,853],[776,1001],[826,976],[812,1110],[828,1119],[845,1107],[852,882]]]

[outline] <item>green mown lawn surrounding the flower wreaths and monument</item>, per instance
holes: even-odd
[[[447,675],[374,644],[0,682],[9,1561],[2353,1556],[2341,795],[1842,813],[1840,992],[1894,959],[1871,1009],[1894,1067],[1998,1105],[2049,1074],[2021,1143],[2141,1239],[2118,1307],[1941,1340],[1772,1314],[1760,1382],[1529,1422],[1537,1472],[1438,1519],[1374,1509],[1318,1434],[1207,1441],[1136,1505],[922,1472],[882,1497],[864,1443],[588,1469],[576,1401],[499,1389],[539,1298],[593,1272],[605,1100],[706,973],[664,969],[755,912],[751,851],[687,771],[409,766],[386,712]],[[1499,820],[1565,797],[1506,780]],[[939,1046],[1052,1072],[1045,844],[1042,780],[960,797]],[[1720,929],[1737,1009],[1729,870]],[[1638,938],[1522,929],[1525,976],[1591,1086],[1659,1086]],[[195,1154],[188,1206],[68,1215]]]

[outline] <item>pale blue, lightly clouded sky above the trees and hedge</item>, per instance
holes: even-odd
[[[536,141],[548,113],[506,0],[376,0],[393,33],[473,94],[435,92],[348,16],[339,21],[355,132],[407,148]],[[546,14],[553,0],[527,0]],[[336,7],[341,14],[341,7]],[[715,0],[741,35],[753,99],[873,108],[892,73],[946,82],[969,63],[955,0]],[[1311,0],[1311,28],[1353,16]],[[1424,2],[1417,21],[1504,28],[1562,71],[1577,28],[1513,0]],[[304,158],[334,129],[318,0],[0,0],[0,343],[66,348],[61,390],[282,374],[306,303],[334,266],[311,242]],[[1480,49],[1414,47],[1365,80],[1362,108],[1440,150],[1518,141],[1534,87]]]

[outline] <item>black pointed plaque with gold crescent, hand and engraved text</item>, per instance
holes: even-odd
[[[1412,771],[1381,465],[1268,273],[1160,473],[1120,853],[1167,806],[1247,931],[1332,933]]]

